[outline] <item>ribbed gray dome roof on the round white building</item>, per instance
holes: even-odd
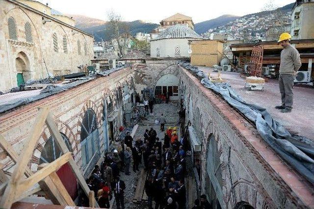
[[[174,26],[170,26],[167,29],[161,31],[161,33],[154,40],[167,39],[167,38],[203,39],[199,34],[197,34],[194,30],[192,30],[186,24],[177,24]]]

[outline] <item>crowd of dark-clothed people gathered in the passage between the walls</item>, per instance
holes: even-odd
[[[164,131],[165,119],[161,115],[160,130]],[[162,143],[163,141],[163,143]],[[164,131],[163,140],[157,137],[153,128],[145,130],[141,137],[133,140],[127,132],[124,140],[112,153],[104,157],[101,166],[96,165],[88,186],[95,192],[100,207],[109,208],[109,200],[114,195],[117,209],[124,209],[125,183],[120,180],[120,172],[130,175],[130,165],[134,173],[139,171],[142,164],[148,176],[145,181],[148,209],[185,209],[186,187],[186,153],[187,143],[184,137],[178,138],[177,127],[168,127]],[[206,196],[195,201],[193,209],[211,208]]]

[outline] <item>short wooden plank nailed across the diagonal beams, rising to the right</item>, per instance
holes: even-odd
[[[34,175],[28,177],[24,181],[19,183],[20,190],[27,190],[29,187],[43,180],[47,176],[49,176],[52,172],[58,170],[62,165],[67,163],[72,158],[72,154],[70,152],[64,154],[63,156],[57,158],[53,162],[49,163],[39,171],[37,171]]]

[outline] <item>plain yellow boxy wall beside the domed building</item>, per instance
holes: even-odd
[[[191,42],[191,65],[218,65],[223,57],[221,40],[202,40]]]

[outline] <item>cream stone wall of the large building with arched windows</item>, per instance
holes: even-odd
[[[10,17],[16,24],[17,40],[9,38]],[[43,24],[42,18],[51,22]],[[31,42],[26,41],[26,23],[31,28]],[[90,64],[93,57],[94,39],[91,35],[17,1],[1,0],[0,28],[0,91],[17,86],[17,74],[22,73],[16,69],[18,57],[22,57],[26,64],[23,71],[26,79],[47,78],[47,71],[54,75],[77,73],[81,71],[78,66]],[[54,33],[57,37],[57,52],[53,48]],[[66,38],[67,52],[64,52],[63,37]]]

